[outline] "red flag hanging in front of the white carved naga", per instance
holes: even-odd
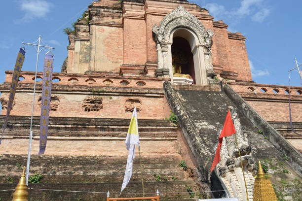
[[[235,133],[236,133],[235,126],[233,124],[232,117],[230,115],[230,111],[228,110],[223,130],[221,131],[221,133],[219,135],[219,139],[218,139],[219,142],[218,142],[215,157],[214,157],[214,160],[212,163],[211,172],[213,171],[215,166],[220,162],[220,149],[222,146],[223,138],[228,135],[235,134]]]

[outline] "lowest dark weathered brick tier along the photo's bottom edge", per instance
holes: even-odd
[[[111,192],[111,197],[119,196],[122,182],[105,182],[105,183],[72,183],[72,184],[54,184],[39,183],[29,184],[30,200],[47,200],[47,201],[104,201],[106,193]],[[145,182],[146,196],[156,196],[156,190],[161,192],[161,199],[181,200],[189,199],[190,194],[187,188],[198,191],[198,187],[193,181],[162,181],[162,182]],[[0,184],[0,190],[13,189],[13,184]],[[79,193],[79,192],[61,192],[34,189],[52,189],[52,190],[70,190],[70,191],[90,191],[103,193]],[[123,191],[122,197],[142,197],[142,183],[130,182]],[[131,194],[128,194],[131,193]],[[6,192],[1,195],[3,199],[10,198],[12,192]]]

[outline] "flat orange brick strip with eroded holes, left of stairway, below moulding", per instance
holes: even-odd
[[[35,111],[34,116],[40,115],[40,93],[36,95],[35,101]],[[141,108],[138,112],[138,116],[141,119],[164,119],[167,117],[163,107],[164,98],[163,95],[158,95],[158,97],[148,97],[148,96],[135,96],[133,95],[123,95],[122,93],[111,93],[111,94],[100,94],[92,95],[83,94],[80,92],[74,92],[72,94],[64,92],[52,93],[52,97],[56,96],[59,98],[59,106],[56,111],[50,111],[50,116],[55,117],[94,117],[94,118],[131,118],[132,112],[125,111],[128,99],[138,99],[141,104],[135,103],[135,105]],[[100,111],[84,111],[85,108],[82,106],[82,102],[87,97],[101,97],[103,102],[103,108]],[[8,93],[2,93],[1,97],[8,100]],[[13,106],[10,115],[31,115],[32,108],[32,93],[16,93],[15,101],[16,104]],[[133,106],[134,107],[134,106]],[[1,115],[6,114],[6,109],[2,109]]]

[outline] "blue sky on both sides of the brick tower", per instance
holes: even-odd
[[[302,63],[302,8],[300,0],[191,0],[210,10],[215,20],[224,20],[229,31],[247,36],[246,45],[255,82],[288,85],[288,70],[294,58]],[[0,83],[5,70],[14,67],[21,42],[34,42],[39,34],[55,47],[54,71],[61,71],[67,57],[67,35],[91,0],[5,0],[1,2]],[[38,70],[42,70],[43,54]],[[36,50],[26,47],[23,70],[34,71]],[[293,72],[291,85],[301,86]]]

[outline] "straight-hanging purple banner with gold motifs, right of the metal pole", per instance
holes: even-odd
[[[51,82],[52,82],[53,56],[45,55],[42,98],[41,98],[41,118],[40,118],[40,148],[38,154],[44,154],[47,142],[48,119],[51,100]]]

